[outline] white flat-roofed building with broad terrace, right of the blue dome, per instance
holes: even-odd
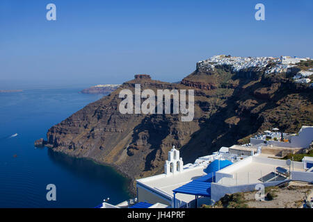
[[[289,181],[313,182],[313,172],[306,171],[304,162],[288,162],[253,155],[216,172],[211,183],[211,200],[225,194],[254,191],[260,185],[272,187]]]

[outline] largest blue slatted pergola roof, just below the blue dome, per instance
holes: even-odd
[[[188,182],[182,187],[174,189],[173,192],[175,194],[179,193],[211,197],[211,182],[213,182],[214,179],[215,173],[210,173],[191,182]]]

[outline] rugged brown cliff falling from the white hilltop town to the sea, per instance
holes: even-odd
[[[141,90],[195,89],[193,121],[179,121],[179,114],[120,114],[120,90],[134,92],[136,83]],[[296,87],[284,74],[197,69],[179,84],[143,76],[51,127],[47,143],[55,151],[88,157],[129,178],[141,178],[163,171],[173,145],[187,163],[220,146],[246,143],[273,126],[296,133],[302,125],[313,124],[312,99],[312,89]]]

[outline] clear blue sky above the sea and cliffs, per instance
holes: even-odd
[[[177,81],[220,53],[313,57],[312,11],[312,0],[1,0],[0,87]]]

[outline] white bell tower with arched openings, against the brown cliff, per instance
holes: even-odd
[[[179,151],[172,146],[172,149],[168,152],[168,160],[164,164],[164,172],[166,175],[181,173],[183,171],[184,162],[179,157]]]

